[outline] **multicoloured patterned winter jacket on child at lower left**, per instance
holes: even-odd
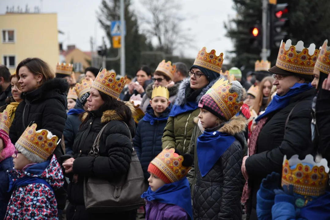
[[[5,219],[58,219],[53,190],[63,186],[64,176],[55,155],[50,161],[33,164],[23,171],[13,170],[9,175],[12,187],[22,178],[26,178],[25,184],[28,185],[13,189]],[[38,183],[33,183],[32,179],[38,179]]]

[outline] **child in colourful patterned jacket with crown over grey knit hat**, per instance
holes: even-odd
[[[59,141],[50,131],[36,128],[36,124],[27,127],[15,144],[8,220],[58,219],[54,190],[63,186],[64,177],[55,155],[47,159]]]

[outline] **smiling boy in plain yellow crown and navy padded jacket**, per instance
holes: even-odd
[[[148,188],[148,166],[150,161],[162,151],[162,136],[172,104],[167,88],[158,86],[152,90],[151,100],[144,117],[139,121],[133,146],[145,175]]]

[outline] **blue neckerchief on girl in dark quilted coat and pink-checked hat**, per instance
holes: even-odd
[[[198,168],[202,176],[209,173],[221,155],[235,140],[233,136],[218,131],[204,131],[197,138]]]

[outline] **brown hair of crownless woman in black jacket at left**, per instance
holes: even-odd
[[[39,74],[43,76],[39,86],[41,86],[47,80],[54,78],[54,73],[51,71],[51,68],[49,67],[48,63],[46,63],[40,58],[34,57],[34,58],[26,58],[17,65],[16,77],[18,80],[19,80],[18,71],[22,66],[26,66],[26,68],[35,76]]]

